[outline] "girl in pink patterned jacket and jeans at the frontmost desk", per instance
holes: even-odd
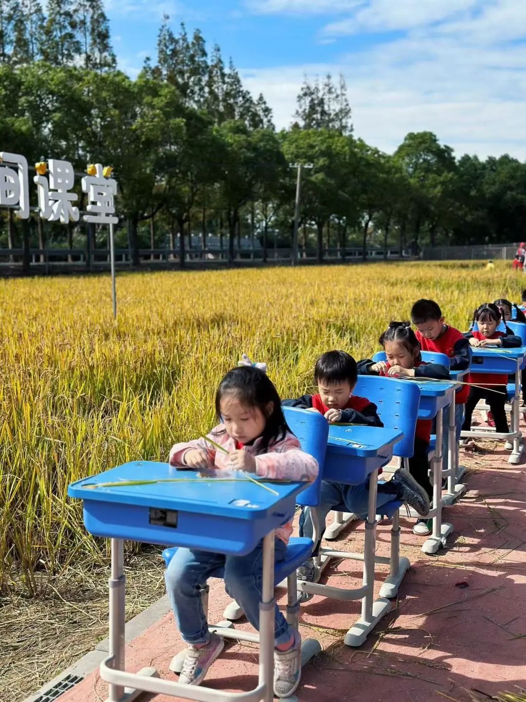
[[[175,444],[170,451],[170,465],[195,470],[244,470],[257,477],[293,482],[316,477],[316,459],[301,450],[290,432],[278,392],[262,370],[241,366],[227,373],[217,390],[215,409],[221,423],[208,437],[228,453],[217,451],[205,439],[196,439]],[[290,534],[291,522],[276,529],[276,561],[285,558]],[[224,569],[225,590],[243,607],[248,621],[257,629],[262,565],[262,543],[245,556],[177,549],[165,578],[177,626],[189,644],[180,682],[199,684],[224,646],[222,638],[208,631],[200,588],[214,571]],[[288,697],[299,684],[301,638],[277,605],[274,633],[274,692],[278,697]]]

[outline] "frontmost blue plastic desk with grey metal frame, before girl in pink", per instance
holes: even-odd
[[[69,486],[71,497],[83,500],[84,524],[95,536],[112,539],[112,578],[109,581],[109,656],[100,675],[109,682],[108,702],[130,702],[149,691],[200,702],[271,702],[274,654],[274,529],[295,510],[295,497],[307,483],[265,484],[275,495],[249,481],[205,479],[196,483],[115,486],[89,485],[124,480],[197,478],[194,471],[177,471],[168,463],[138,461],[84,478]],[[123,539],[245,554],[264,539],[263,606],[259,614],[259,684],[250,693],[228,693],[159,680],[153,668],[139,673],[124,669]],[[126,690],[129,686],[131,690]]]

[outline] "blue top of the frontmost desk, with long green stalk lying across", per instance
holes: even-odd
[[[83,478],[67,489],[70,497],[85,503],[97,501],[121,505],[141,505],[163,510],[184,510],[194,514],[216,515],[234,519],[258,519],[282,500],[295,497],[309,483],[264,482],[275,495],[245,479],[238,471],[213,471],[213,477],[199,477],[193,470],[176,470],[168,463],[133,461],[100,475]],[[166,482],[90,488],[105,482],[130,480],[198,479],[198,482]],[[236,482],[227,479],[237,478]]]

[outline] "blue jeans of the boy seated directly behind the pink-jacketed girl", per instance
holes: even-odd
[[[396,499],[397,496],[398,490],[393,488],[393,486],[389,487],[389,482],[379,483],[376,498],[377,512],[381,511],[379,508],[381,508],[382,505],[391,502]],[[299,515],[299,536],[313,538],[314,529],[311,519],[311,510],[315,510],[320,527],[318,543],[314,544],[312,552],[313,555],[316,556],[320,548],[323,532],[325,531],[325,520],[331,510],[344,506],[345,512],[353,512],[358,518],[365,519],[367,517],[368,505],[368,480],[360,485],[344,485],[342,483],[331,483],[323,480],[321,483],[320,504],[317,507],[303,508],[301,515]],[[312,559],[310,558],[306,561],[306,564],[312,564]]]

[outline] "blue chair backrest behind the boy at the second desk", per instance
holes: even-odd
[[[399,378],[358,376],[353,395],[367,397],[375,403],[384,427],[404,432],[403,439],[394,445],[393,453],[402,458],[411,458],[420,404],[420,388],[417,383]]]

